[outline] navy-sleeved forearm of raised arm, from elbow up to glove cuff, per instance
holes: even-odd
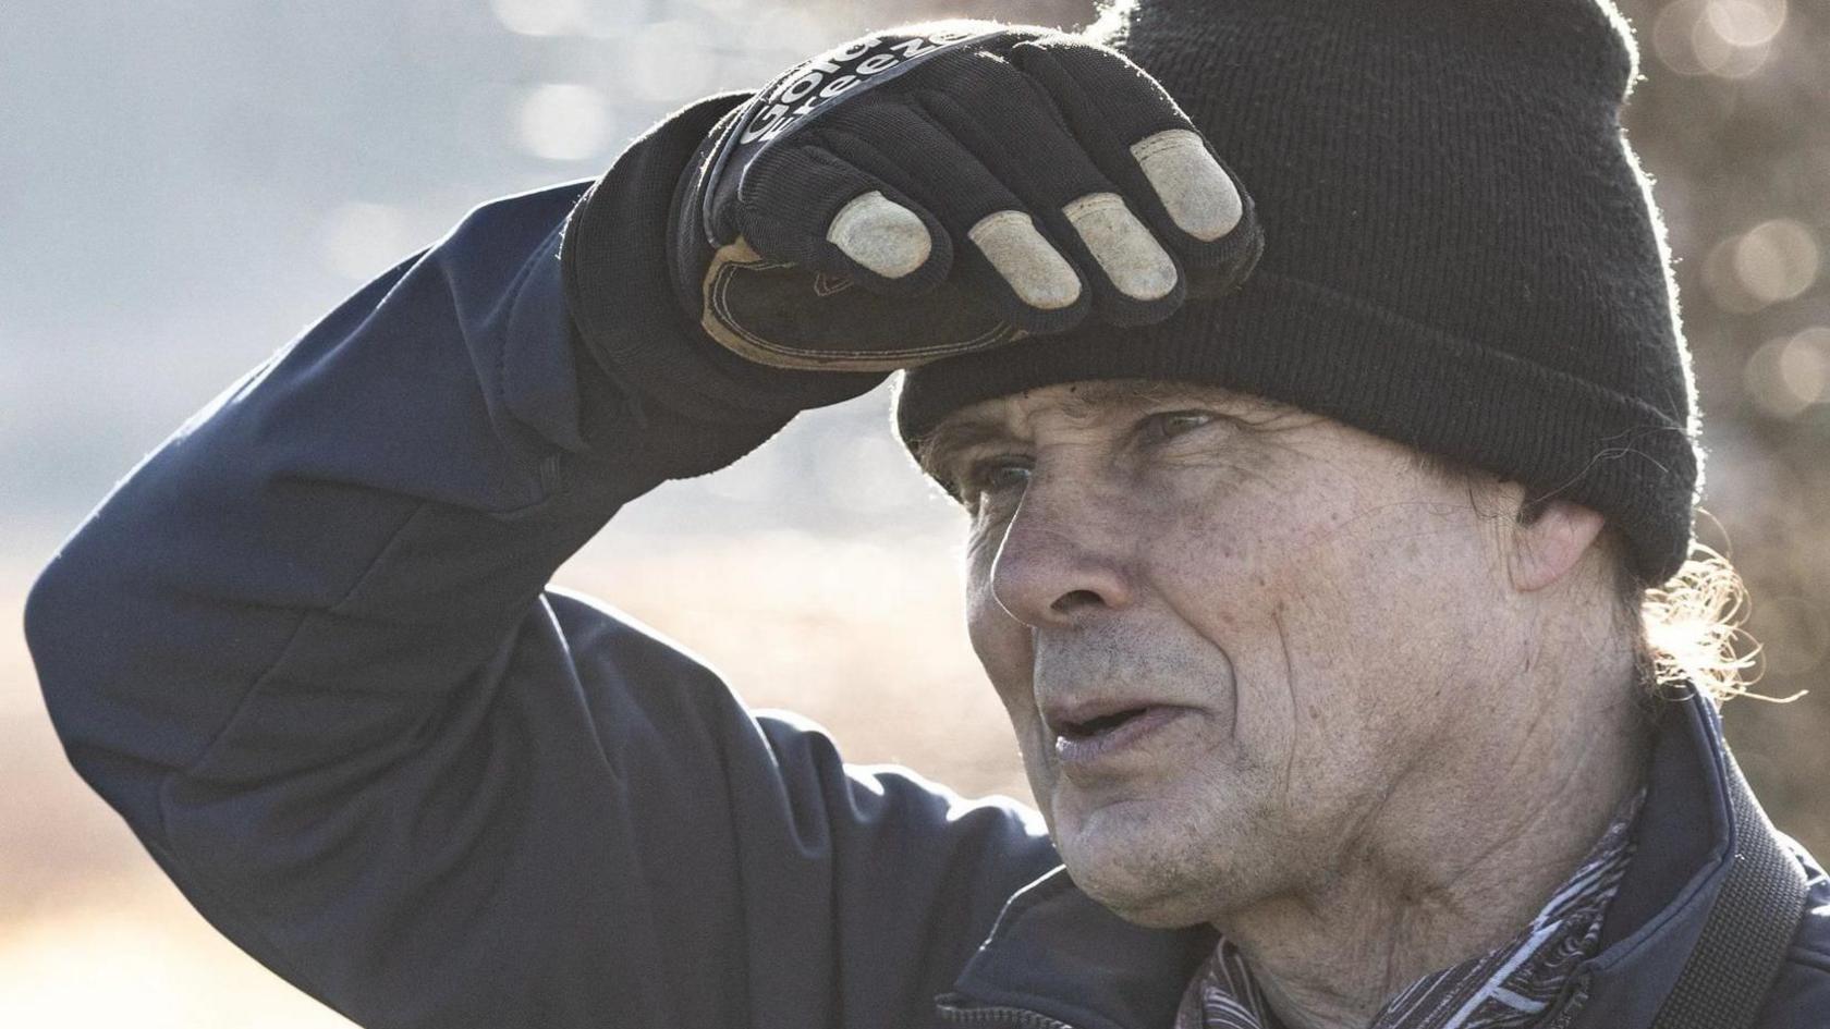
[[[137,828],[157,776],[212,751],[212,774],[276,776],[408,732],[620,504],[787,421],[688,419],[584,355],[560,267],[578,194],[487,205],[351,297],[46,569],[27,635],[53,718]]]

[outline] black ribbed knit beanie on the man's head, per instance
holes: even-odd
[[[1122,0],[1155,75],[1257,201],[1246,286],[904,375],[946,414],[1082,379],[1279,399],[1609,518],[1643,582],[1689,551],[1700,456],[1663,233],[1620,128],[1609,0]]]

